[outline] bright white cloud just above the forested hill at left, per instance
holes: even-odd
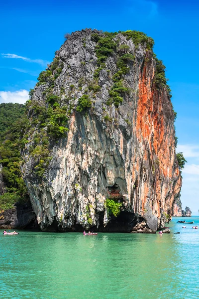
[[[0,103],[24,104],[29,99],[28,91],[25,89],[11,91],[0,91]]]

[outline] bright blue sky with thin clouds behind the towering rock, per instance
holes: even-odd
[[[178,113],[182,203],[199,210],[199,1],[76,0],[7,1],[0,10],[0,102],[24,102],[38,74],[52,61],[64,33],[83,28],[135,29],[155,40]]]

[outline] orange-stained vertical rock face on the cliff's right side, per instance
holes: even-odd
[[[144,145],[144,152],[133,171],[133,176],[135,173],[140,173],[140,162],[142,161],[143,164],[145,162],[148,168],[152,168],[153,181],[151,183],[153,186],[146,178],[142,179],[142,182],[139,181],[142,189],[139,192],[139,199],[134,200],[134,207],[137,205],[136,201],[138,201],[138,206],[141,202],[143,211],[147,198],[150,198],[151,208],[159,217],[161,208],[171,213],[174,197],[180,192],[182,180],[178,165],[175,166],[172,104],[165,89],[158,91],[157,88],[153,88],[153,75],[153,65],[151,63],[144,65],[139,79],[135,131],[137,140],[142,147]],[[149,169],[148,172],[150,172]]]

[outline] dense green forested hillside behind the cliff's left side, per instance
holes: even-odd
[[[0,195],[0,210],[6,210],[16,201],[28,198],[20,170],[20,148],[27,143],[24,134],[28,122],[24,115],[25,105],[0,104],[0,163],[6,193]]]

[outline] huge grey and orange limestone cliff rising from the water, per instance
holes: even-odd
[[[147,42],[122,33],[108,37],[113,45],[99,38],[106,37],[97,30],[72,33],[56,52],[56,68],[39,77],[22,151],[24,180],[42,230],[155,232],[182,184],[171,100],[165,85],[157,87]],[[38,107],[48,109],[46,118],[51,111],[43,126]],[[68,131],[55,138],[57,107],[65,109]],[[121,204],[117,217],[106,198]]]

